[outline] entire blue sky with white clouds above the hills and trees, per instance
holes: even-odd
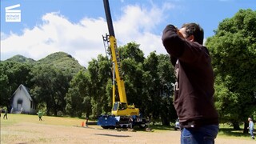
[[[197,22],[205,38],[219,22],[240,9],[256,10],[254,0],[109,0],[118,46],[140,44],[145,56],[166,54],[162,30]],[[6,22],[7,6],[20,4],[21,22]],[[1,0],[1,60],[22,54],[38,60],[64,51],[87,66],[105,55],[102,34],[108,32],[102,0]]]

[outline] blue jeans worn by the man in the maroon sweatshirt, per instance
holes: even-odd
[[[182,144],[214,144],[218,134],[218,125],[207,125],[197,128],[183,128],[181,135]]]

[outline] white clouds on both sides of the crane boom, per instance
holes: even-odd
[[[164,11],[170,8],[173,6],[166,4],[162,7],[152,5],[150,8],[126,6],[120,18],[113,22],[118,46],[137,42],[146,55],[154,50],[166,54],[161,34],[154,34],[154,30],[164,21]],[[107,32],[105,18],[83,18],[73,23],[53,12],[43,15],[42,24],[23,30],[23,34],[1,33],[1,53],[10,56],[22,54],[38,60],[48,54],[64,51],[82,66],[87,66],[91,58],[97,58],[98,54],[105,55],[102,34]]]

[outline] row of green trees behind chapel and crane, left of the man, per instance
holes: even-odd
[[[134,42],[118,50],[128,102],[140,108],[142,114],[168,125],[177,118],[171,98],[174,70],[169,56],[152,52],[145,58]],[[38,109],[44,109],[48,115],[98,118],[110,114],[112,73],[107,56],[98,55],[77,74],[47,62],[34,65],[6,61],[1,62],[1,75],[1,85],[5,85],[2,87],[10,87],[2,89],[1,106],[10,106],[11,94],[22,83],[30,88]]]

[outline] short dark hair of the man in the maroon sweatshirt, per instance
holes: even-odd
[[[197,23],[185,23],[182,25],[182,28],[186,28],[186,35],[194,35],[194,41],[202,45],[203,42],[203,29]]]

